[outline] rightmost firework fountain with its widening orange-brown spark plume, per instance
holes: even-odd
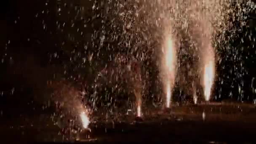
[[[192,0],[193,1],[193,0]],[[222,5],[223,4],[223,5]],[[204,91],[205,101],[210,100],[211,89],[215,77],[215,49],[213,48],[213,37],[216,33],[225,29],[225,25],[217,18],[225,19],[223,9],[224,1],[200,1],[188,3],[187,11],[189,25],[188,35],[193,41],[195,50],[199,56],[199,70],[201,85]],[[194,88],[193,91],[196,91]],[[195,101],[195,98],[194,98]]]

